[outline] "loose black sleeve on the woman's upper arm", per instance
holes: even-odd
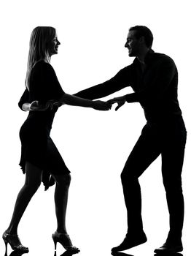
[[[33,100],[42,103],[60,99],[65,94],[50,64],[42,62],[36,67],[31,75],[30,94]]]

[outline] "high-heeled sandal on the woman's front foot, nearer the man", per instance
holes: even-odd
[[[67,233],[58,233],[55,231],[55,233],[52,234],[52,239],[55,244],[55,250],[57,243],[60,243],[67,251],[79,252],[79,249],[72,245],[70,237]]]

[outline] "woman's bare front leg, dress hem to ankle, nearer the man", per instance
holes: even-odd
[[[57,218],[57,232],[67,233],[66,231],[66,208],[68,203],[70,174],[52,175],[55,179],[55,214]]]

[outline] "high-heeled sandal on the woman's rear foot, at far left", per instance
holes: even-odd
[[[5,244],[5,254],[7,254],[7,244],[9,244],[13,250],[17,250],[20,252],[29,252],[28,247],[23,246],[20,243],[20,239],[17,235],[10,235],[5,231],[2,237],[4,239],[4,244]]]

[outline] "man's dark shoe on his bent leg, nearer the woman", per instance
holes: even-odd
[[[112,252],[124,251],[125,249],[130,249],[139,244],[144,244],[145,242],[147,242],[147,236],[144,232],[141,234],[137,233],[137,235],[127,234],[119,246],[112,248]]]

